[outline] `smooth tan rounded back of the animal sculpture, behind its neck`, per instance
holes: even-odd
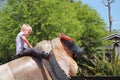
[[[52,80],[42,62],[22,57],[0,66],[0,80]]]

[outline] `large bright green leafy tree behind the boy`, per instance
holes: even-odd
[[[29,37],[32,45],[53,39],[61,32],[76,39],[82,31],[74,4],[69,0],[8,0],[0,14],[0,54],[9,54],[8,58],[15,55],[15,38],[23,23],[33,28]]]

